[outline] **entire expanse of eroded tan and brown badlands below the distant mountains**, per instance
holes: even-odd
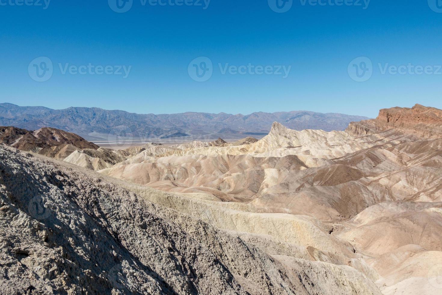
[[[442,110],[236,142],[0,142],[1,294],[442,294]]]

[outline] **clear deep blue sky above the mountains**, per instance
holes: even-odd
[[[0,102],[155,114],[309,110],[369,117],[415,103],[442,108],[441,0],[371,0],[368,6],[293,0],[284,13],[270,8],[272,0],[211,0],[208,6],[133,0],[124,13],[107,0],[51,0],[46,9],[44,0],[42,6],[11,5],[20,1],[0,0]],[[39,57],[53,64],[44,82],[29,72]],[[190,64],[198,57],[212,63],[203,82],[189,74],[200,67],[201,59]],[[362,70],[357,57],[373,65],[363,82],[352,79],[352,69]],[[73,74],[89,64],[108,66],[109,74]],[[249,64],[256,71],[245,70]],[[63,73],[66,65],[76,68]],[[114,74],[123,65],[128,74]],[[245,74],[223,73],[226,66],[243,66]],[[257,66],[268,73],[258,74]],[[274,74],[282,66],[290,67],[285,78]],[[404,74],[395,72],[400,66]],[[426,73],[417,74],[416,66]]]

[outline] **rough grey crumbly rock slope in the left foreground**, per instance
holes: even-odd
[[[279,262],[119,182],[0,145],[0,294],[381,294],[353,268]]]

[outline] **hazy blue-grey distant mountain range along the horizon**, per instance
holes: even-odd
[[[0,125],[27,130],[53,127],[78,134],[90,141],[112,142],[117,138],[155,140],[160,138],[216,139],[243,138],[245,135],[262,137],[277,121],[294,130],[345,130],[350,122],[369,119],[336,113],[290,111],[250,115],[226,113],[209,114],[186,112],[182,114],[135,114],[98,107],[69,107],[53,110],[47,107],[20,107],[0,103]]]

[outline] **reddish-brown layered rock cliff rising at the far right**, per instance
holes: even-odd
[[[381,109],[376,119],[351,122],[347,131],[363,136],[389,129],[419,138],[442,137],[442,110],[416,104],[412,108],[392,107]]]

